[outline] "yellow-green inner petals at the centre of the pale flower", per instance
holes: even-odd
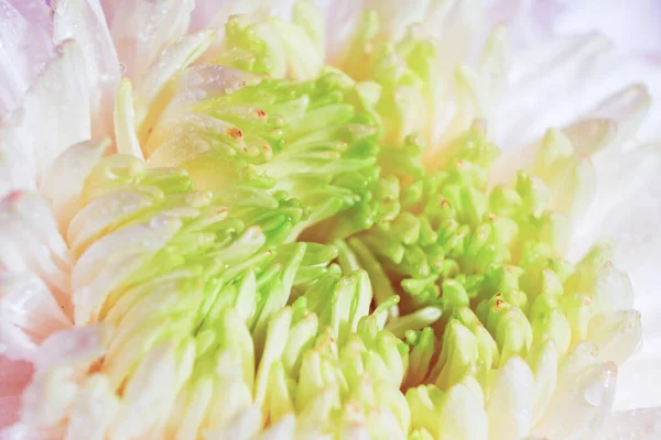
[[[433,44],[377,44],[367,13],[343,73],[322,67],[318,23],[306,6],[291,23],[232,18],[217,62],[254,76],[180,108],[147,164],[110,156],[88,176],[69,227],[77,265],[151,231],[108,256],[123,272],[104,295],[74,294],[77,322],[116,329],[110,388],[171,346],[163,429],[182,438],[253,407],[256,436],[293,415],[333,438],[486,438],[462,411],[492,422],[498,373],[520,359],[540,381],[539,421],[563,380],[549,369],[582,341],[622,362],[637,331],[614,318],[631,298],[608,244],[563,258],[572,209],[552,209],[543,175],[568,161],[562,142],[543,150],[542,178],[491,188],[499,150],[476,120],[431,166],[416,116],[435,111],[422,99],[436,94]]]

